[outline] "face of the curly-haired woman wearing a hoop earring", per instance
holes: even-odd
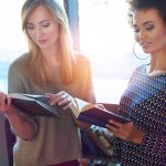
[[[166,24],[157,10],[138,10],[134,12],[133,28],[135,40],[145,53],[166,50]]]

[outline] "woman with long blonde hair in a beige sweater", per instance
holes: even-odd
[[[14,165],[45,166],[79,159],[80,123],[68,110],[68,93],[95,102],[89,59],[74,52],[65,11],[56,0],[27,0],[21,17],[29,52],[10,65],[9,93],[49,93],[51,104],[63,108],[61,120],[31,117],[20,114],[11,98],[0,93],[0,112],[17,136]]]

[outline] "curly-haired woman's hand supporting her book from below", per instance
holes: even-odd
[[[122,124],[115,121],[110,121],[108,124],[106,124],[106,128],[116,137],[125,142],[134,142],[136,144],[141,144],[143,141],[144,133],[142,131],[138,131],[134,126],[133,122]]]

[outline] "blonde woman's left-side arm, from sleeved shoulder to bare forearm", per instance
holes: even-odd
[[[27,93],[25,85],[25,65],[22,64],[20,61],[13,62],[8,72],[8,93]],[[35,120],[31,116],[25,114],[20,114],[18,110],[11,104],[11,98],[8,95],[4,95],[7,104],[6,110],[6,117],[8,118],[11,131],[17,136],[31,139],[34,137],[35,133],[38,132],[38,124]],[[3,110],[3,111],[4,111]]]

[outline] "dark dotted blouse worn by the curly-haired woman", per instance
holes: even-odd
[[[166,166],[166,73],[148,75],[145,65],[137,68],[118,111],[145,135],[141,145],[115,138],[113,158],[123,166]]]

